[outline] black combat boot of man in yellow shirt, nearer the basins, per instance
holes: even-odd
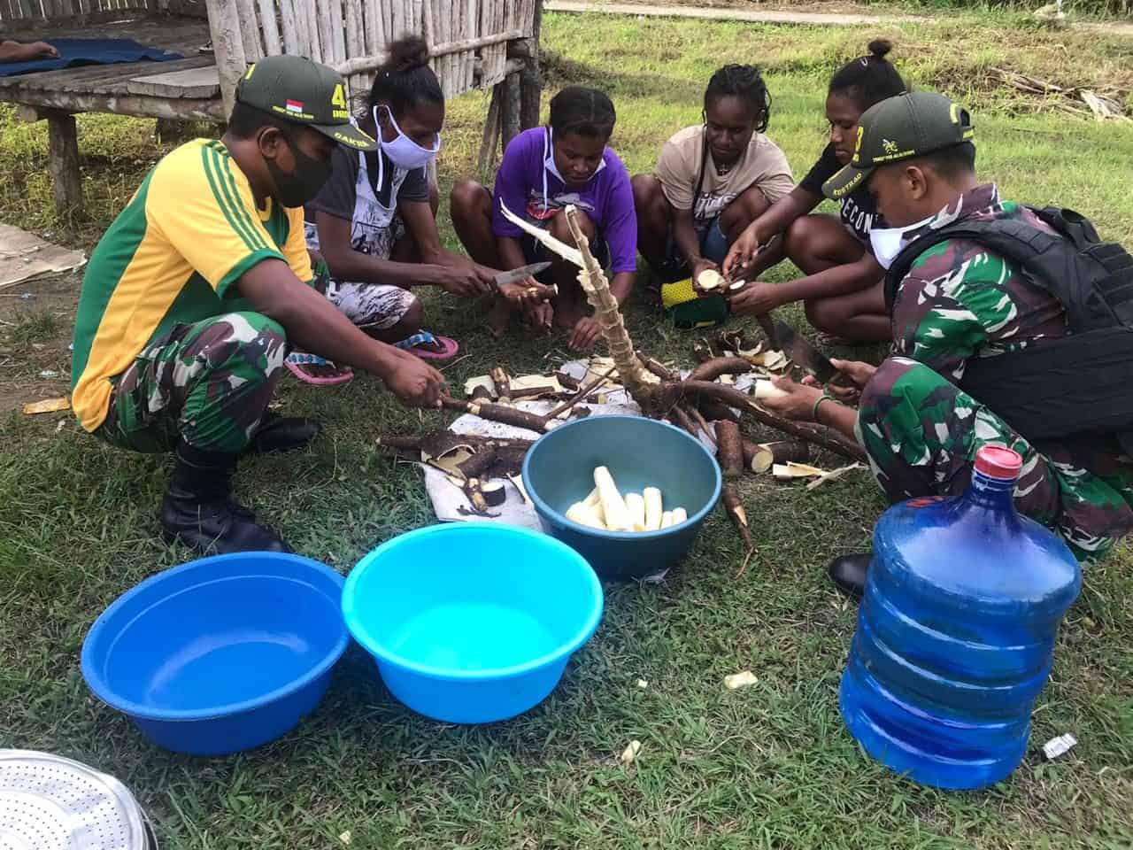
[[[274,532],[231,500],[235,453],[178,443],[177,466],[161,503],[161,535],[204,554],[290,552]]]

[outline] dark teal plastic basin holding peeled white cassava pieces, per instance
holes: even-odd
[[[604,532],[564,516],[594,490],[594,468],[605,466],[624,493],[661,488],[665,510],[689,519],[658,532]],[[523,460],[523,486],[543,527],[577,550],[607,579],[638,579],[666,570],[692,546],[719,500],[715,458],[684,431],[641,416],[590,416],[539,437]]]

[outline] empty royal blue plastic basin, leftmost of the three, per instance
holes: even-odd
[[[318,705],[349,635],[342,577],[299,555],[191,561],[122,594],[83,644],[83,678],[154,743],[216,756]]]

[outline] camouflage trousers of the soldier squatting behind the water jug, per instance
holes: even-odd
[[[1091,454],[1111,449],[1099,444],[1107,437],[1092,445],[1036,448],[987,406],[917,360],[891,357],[878,367],[862,392],[857,431],[893,502],[959,495],[968,487],[979,448],[1006,445],[1023,458],[1015,507],[1062,535],[1080,561],[1100,559],[1133,529],[1133,461],[1091,462]]]

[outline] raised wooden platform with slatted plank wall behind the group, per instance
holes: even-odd
[[[0,102],[48,121],[48,169],[60,213],[82,207],[75,114],[111,112],[223,122],[236,84],[264,56],[307,56],[347,77],[356,104],[394,37],[420,33],[446,96],[493,86],[482,162],[538,122],[542,0],[0,0],[0,37],[127,37],[181,53],[165,62],[83,66],[0,77]],[[202,56],[212,42],[214,53]]]

